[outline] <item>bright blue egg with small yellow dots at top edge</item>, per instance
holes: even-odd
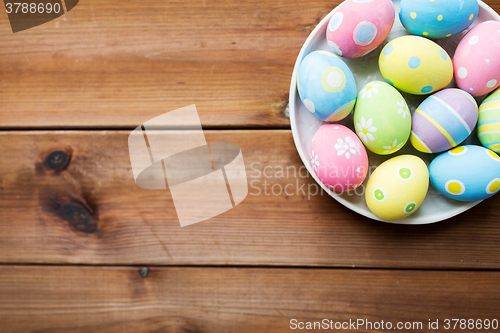
[[[465,30],[476,20],[477,0],[402,0],[399,18],[414,35],[445,38]]]

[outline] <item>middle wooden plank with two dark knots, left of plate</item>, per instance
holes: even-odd
[[[136,186],[128,134],[0,132],[0,262],[500,267],[500,196],[433,225],[372,221],[313,195],[285,130],[206,131],[209,142],[241,147],[249,195],[181,228],[169,191]],[[54,151],[72,154],[63,170],[44,164]],[[271,194],[288,184],[290,195]]]

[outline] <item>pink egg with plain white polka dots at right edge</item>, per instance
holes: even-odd
[[[453,70],[458,87],[472,96],[500,86],[500,22],[483,22],[464,36],[455,52]]]

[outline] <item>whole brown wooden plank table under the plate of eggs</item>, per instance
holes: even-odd
[[[303,165],[286,110],[296,56],[338,3],[82,0],[16,34],[1,14],[0,331],[500,320],[500,196],[392,225],[280,173]],[[190,104],[207,141],[241,147],[253,183],[235,209],[181,228],[169,191],[135,185],[127,137]]]

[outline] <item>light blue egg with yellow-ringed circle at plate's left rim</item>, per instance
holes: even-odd
[[[314,51],[302,60],[297,87],[307,110],[323,121],[344,119],[356,103],[356,82],[351,70],[330,52]]]

